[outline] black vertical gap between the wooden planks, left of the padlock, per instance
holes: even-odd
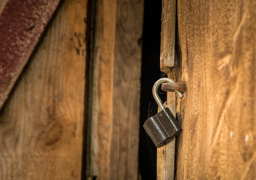
[[[159,78],[165,76],[165,73],[160,71],[161,13],[161,0],[145,0],[139,148],[139,167],[143,180],[157,178],[157,148],[147,135],[143,124],[157,113],[158,105],[152,95],[152,87]],[[164,102],[166,93],[163,91],[159,93]]]

